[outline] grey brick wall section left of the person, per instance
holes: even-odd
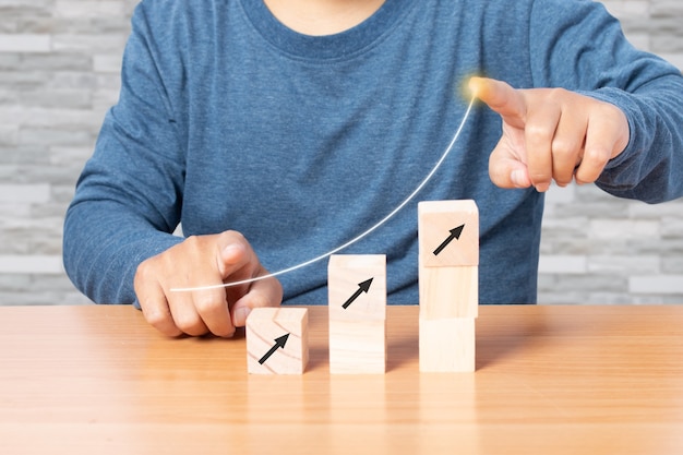
[[[0,304],[84,303],[63,214],[118,98],[132,0],[0,0]]]

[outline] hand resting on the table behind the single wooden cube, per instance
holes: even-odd
[[[243,326],[252,308],[276,307],[283,287],[274,278],[196,291],[171,288],[220,285],[266,275],[242,235],[226,231],[185,239],[140,264],[135,294],[147,322],[169,336],[213,333],[221,337]]]

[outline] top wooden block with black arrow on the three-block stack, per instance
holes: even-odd
[[[479,265],[479,209],[472,200],[418,204],[420,266]]]

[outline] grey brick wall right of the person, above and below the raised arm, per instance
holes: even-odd
[[[683,69],[683,1],[609,0],[638,48]],[[647,205],[589,187],[548,193],[539,276],[547,303],[683,303],[683,200]]]

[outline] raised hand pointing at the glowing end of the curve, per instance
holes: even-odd
[[[501,188],[547,191],[591,183],[626,148],[626,116],[615,106],[562,88],[515,89],[472,77],[470,91],[503,119],[503,133],[489,158],[489,175]]]

